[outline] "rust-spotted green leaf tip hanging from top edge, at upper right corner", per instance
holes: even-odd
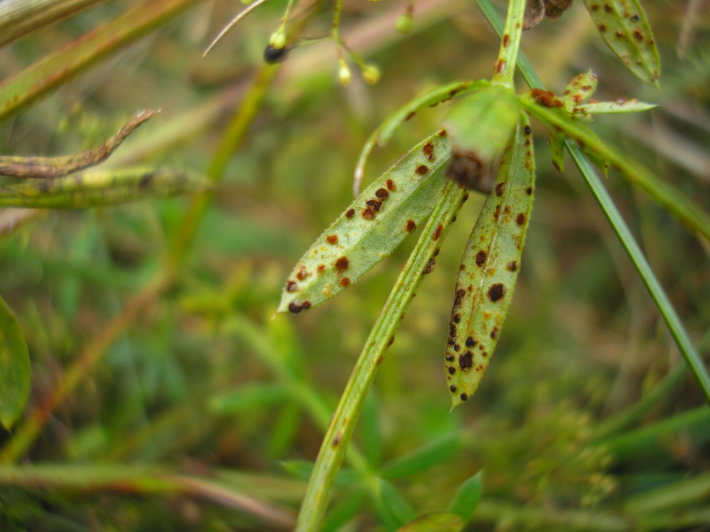
[[[638,0],[584,0],[599,35],[635,77],[658,87],[661,64]]]

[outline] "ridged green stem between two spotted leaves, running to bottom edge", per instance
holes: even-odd
[[[427,264],[439,249],[443,235],[437,233],[441,233],[442,227],[444,233],[448,231],[452,218],[457,214],[466,197],[466,192],[457,184],[447,182],[442,190],[441,199],[390,292],[323,437],[306,495],[301,504],[296,531],[311,532],[320,528],[335,478],[377,368],[414,297]]]

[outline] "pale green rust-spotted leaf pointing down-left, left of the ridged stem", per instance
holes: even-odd
[[[296,263],[278,312],[324,303],[392,253],[434,209],[450,157],[447,135],[439,131],[373,182]]]

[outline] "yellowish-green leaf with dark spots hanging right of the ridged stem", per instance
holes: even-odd
[[[452,408],[476,391],[496,348],[518,279],[534,181],[532,136],[525,119],[503,154],[495,187],[461,259],[444,350]]]

